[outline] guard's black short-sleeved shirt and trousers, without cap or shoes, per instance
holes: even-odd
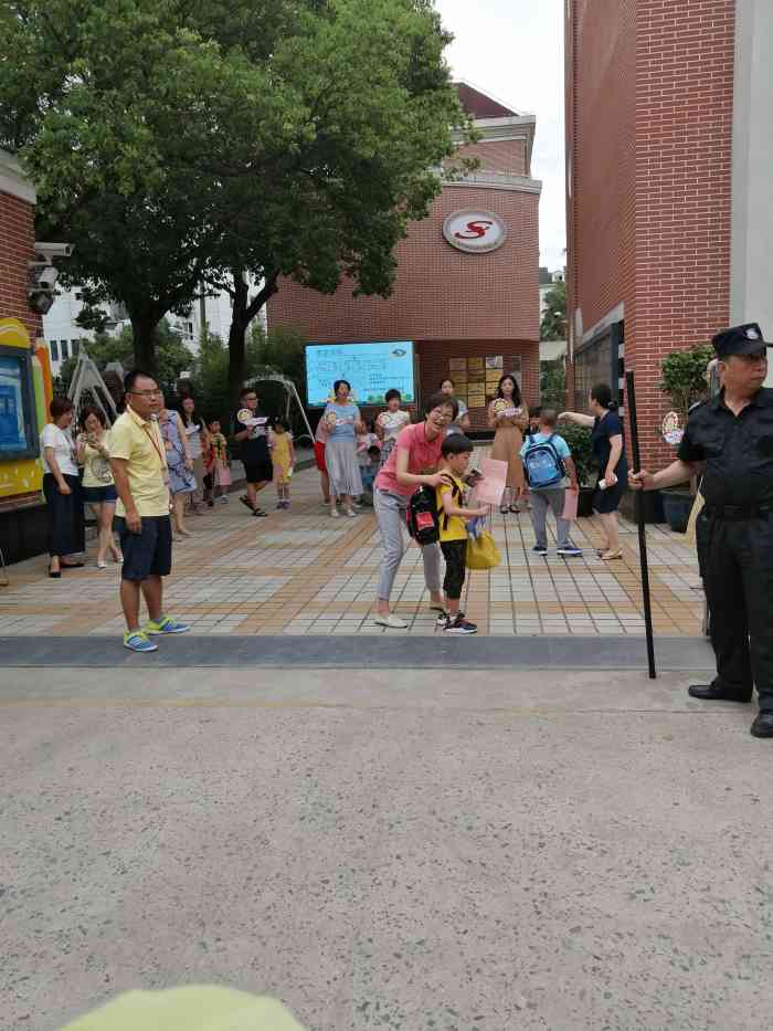
[[[719,350],[719,348],[718,348]],[[773,711],[773,390],[739,415],[723,394],[691,413],[682,462],[705,462],[698,561],[711,613],[718,687]]]

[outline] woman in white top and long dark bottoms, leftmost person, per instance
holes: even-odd
[[[49,576],[59,580],[62,569],[84,562],[71,556],[86,549],[81,502],[81,481],[75,464],[75,445],[67,432],[73,421],[73,402],[54,398],[49,406],[51,422],[43,427],[43,494],[49,506]]]

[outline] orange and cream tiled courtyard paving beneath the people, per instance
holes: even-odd
[[[191,517],[195,537],[176,544],[174,570],[167,581],[167,611],[190,621],[195,633],[233,634],[433,634],[419,549],[410,547],[393,602],[409,621],[406,631],[372,622],[371,606],[381,546],[372,511],[357,519],[333,520],[321,505],[315,470],[293,481],[288,512],[250,516],[237,495],[205,515]],[[595,519],[581,519],[574,540],[582,558],[532,555],[528,514],[494,514],[494,536],[502,565],[473,572],[464,609],[480,633],[643,634],[642,592],[635,527],[623,522],[623,560],[597,558]],[[554,547],[554,538],[550,544]],[[648,528],[653,620],[656,634],[699,634],[702,592],[695,555],[679,535]],[[45,576],[45,558],[11,567],[0,588],[0,637],[117,634],[123,630],[118,567],[89,565]]]

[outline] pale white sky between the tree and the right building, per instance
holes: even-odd
[[[565,262],[563,0],[435,0],[456,36],[454,74],[537,116],[531,173],[542,180],[540,264]]]

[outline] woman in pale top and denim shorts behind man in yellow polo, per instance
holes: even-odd
[[[88,406],[81,412],[81,425],[83,431],[78,433],[75,441],[77,462],[78,465],[83,465],[81,495],[84,503],[91,505],[96,513],[99,527],[97,567],[106,569],[107,553],[109,551],[113,556],[113,561],[119,562],[120,551],[113,539],[113,516],[118,492],[110,470],[105,413],[98,408]]]

